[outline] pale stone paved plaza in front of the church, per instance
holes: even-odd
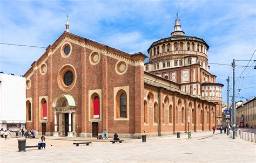
[[[39,137],[39,136],[38,136]],[[26,145],[36,145],[36,139],[26,139]],[[124,139],[122,144],[96,138],[46,137],[46,150],[27,148],[18,152],[20,138],[0,139],[1,162],[256,162],[256,143],[231,139],[226,134],[212,132],[141,139]],[[76,147],[77,140],[92,141],[89,146]]]

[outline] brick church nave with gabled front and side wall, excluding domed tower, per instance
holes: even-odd
[[[186,132],[188,126],[211,130],[217,104],[144,72],[146,57],[71,34],[68,24],[24,74],[26,127],[69,137],[97,137],[106,129],[129,138]]]

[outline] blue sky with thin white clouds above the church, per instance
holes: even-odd
[[[227,76],[230,76],[232,96],[233,59],[237,65],[235,101],[245,101],[246,98],[256,96],[256,4],[255,1],[247,0],[2,0],[0,72],[23,75],[31,63],[45,52],[45,48],[65,31],[66,15],[69,15],[70,32],[73,34],[130,54],[147,54],[152,42],[170,37],[177,12],[185,35],[202,38],[210,46],[208,65],[211,66],[210,73],[217,76],[217,82],[224,84],[223,102],[227,102]],[[249,67],[240,67],[247,65]]]

